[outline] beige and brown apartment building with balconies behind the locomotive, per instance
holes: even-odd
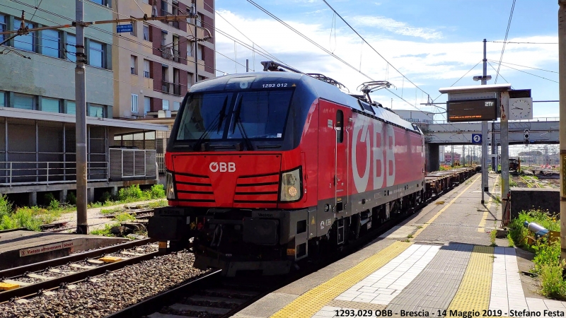
[[[133,31],[118,34],[112,46],[113,117],[157,117],[160,110],[171,117],[190,86],[215,75],[214,0],[112,1],[112,10],[113,18],[193,14],[178,22],[134,22]]]

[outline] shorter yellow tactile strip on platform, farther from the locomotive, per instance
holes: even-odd
[[[475,246],[466,273],[446,314],[450,310],[469,312],[488,310],[490,307],[491,281],[493,272],[493,247]],[[456,316],[454,316],[456,317]]]

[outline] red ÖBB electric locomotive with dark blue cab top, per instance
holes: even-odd
[[[422,131],[368,99],[284,71],[192,86],[167,145],[169,206],[149,237],[191,241],[200,269],[274,275],[417,206]]]

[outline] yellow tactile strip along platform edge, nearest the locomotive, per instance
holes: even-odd
[[[343,271],[342,273],[330,278],[330,280],[308,290],[298,298],[289,302],[271,317],[290,318],[290,317],[312,317],[330,300],[333,300],[348,288],[352,287],[369,274],[377,271],[387,264],[391,259],[398,257],[405,249],[410,247],[410,242],[394,242],[392,245],[382,249],[367,259],[364,259],[356,266]]]

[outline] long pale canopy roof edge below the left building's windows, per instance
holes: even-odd
[[[74,114],[60,114],[57,112],[40,112],[37,110],[21,110],[19,108],[0,107],[0,117],[45,120],[47,122],[68,122],[74,124],[76,116]],[[168,126],[160,124],[149,124],[143,122],[110,119],[100,117],[86,117],[86,124],[93,126],[109,126],[140,130],[167,131]]]

